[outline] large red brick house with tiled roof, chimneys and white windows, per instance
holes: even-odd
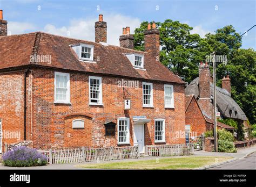
[[[1,12],[0,12],[1,13]],[[159,60],[156,24],[145,52],[123,29],[120,47],[43,32],[6,35],[0,19],[2,143],[31,140],[35,148],[185,143],[185,83]],[[17,136],[10,136],[16,134]],[[8,136],[9,135],[9,136]]]

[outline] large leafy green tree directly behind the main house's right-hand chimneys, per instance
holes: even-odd
[[[134,31],[134,48],[144,51],[144,31],[147,21]],[[164,23],[156,23],[160,32],[160,61],[184,81],[191,81],[198,76],[198,64],[204,60],[199,51],[203,46],[198,34],[190,34],[193,29],[187,24],[167,19]],[[205,43],[205,42],[204,42]],[[206,44],[206,43],[205,43]]]

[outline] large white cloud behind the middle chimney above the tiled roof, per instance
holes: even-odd
[[[87,19],[73,19],[69,26],[56,27],[48,24],[44,27],[44,32],[63,35],[65,37],[85,39],[95,41],[95,21],[98,17]],[[138,18],[132,18],[124,15],[104,15],[104,21],[107,22],[107,43],[119,46],[119,36],[122,34],[122,28],[130,26],[131,33],[136,27],[139,27],[141,21]]]

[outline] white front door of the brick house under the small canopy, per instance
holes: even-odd
[[[139,152],[144,153],[144,124],[134,125],[134,146],[139,146]]]

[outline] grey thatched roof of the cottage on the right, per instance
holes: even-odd
[[[217,107],[223,117],[247,120],[240,106],[232,99],[230,93],[222,88],[216,87]],[[193,94],[198,99],[199,77],[195,78],[186,88],[185,95]],[[213,84],[211,84],[211,96],[213,96]]]

